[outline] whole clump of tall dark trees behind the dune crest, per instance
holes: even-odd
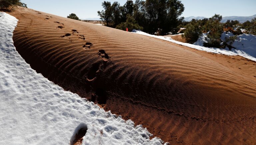
[[[179,18],[184,11],[184,5],[179,0],[136,0],[135,3],[128,0],[124,6],[120,6],[118,2],[111,4],[104,1],[102,7],[104,10],[98,11],[98,15],[106,26],[121,28],[122,23],[123,28],[125,24],[133,23],[151,34],[156,31],[160,34],[176,33],[179,30],[177,26],[184,19]]]

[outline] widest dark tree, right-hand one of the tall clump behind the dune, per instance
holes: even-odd
[[[184,19],[178,18],[184,11],[184,5],[179,0],[146,0],[145,4],[146,25],[144,31],[155,33],[160,30],[164,35],[168,32],[176,33],[179,29],[177,26]],[[140,24],[140,20],[137,20]]]

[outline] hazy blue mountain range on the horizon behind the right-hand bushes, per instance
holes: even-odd
[[[222,20],[221,22],[224,23],[226,22],[227,20],[237,20],[239,21],[240,23],[243,23],[243,22],[246,22],[246,21],[251,21],[253,18],[255,18],[256,15],[253,15],[253,16],[248,16],[248,17],[244,17],[244,16],[228,16],[228,17],[222,17]],[[186,17],[184,18],[184,21],[191,21],[192,19],[198,19],[198,20],[202,20],[206,17],[194,17],[194,16],[191,16],[191,17]]]

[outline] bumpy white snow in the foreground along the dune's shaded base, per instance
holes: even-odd
[[[17,19],[0,12],[0,144],[160,144],[142,125],[105,112],[31,69],[13,45]]]

